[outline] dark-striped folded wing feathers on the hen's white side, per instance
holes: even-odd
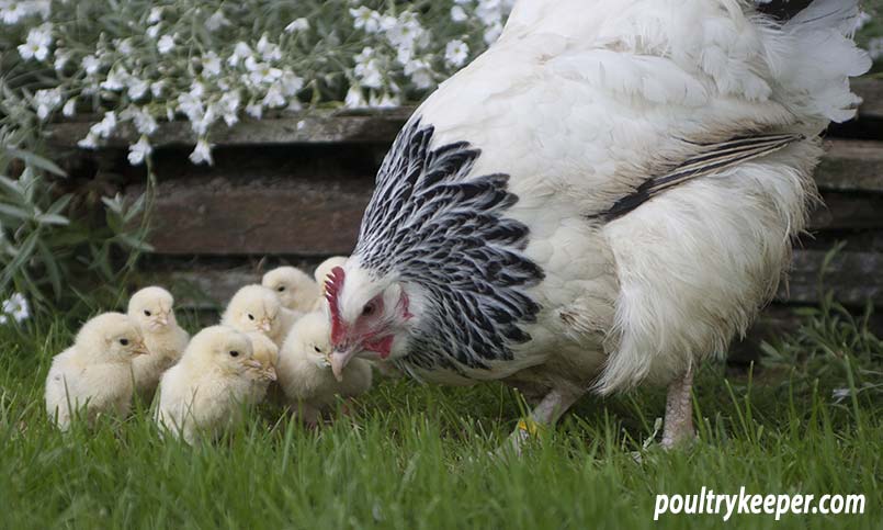
[[[803,139],[805,139],[804,136],[800,134],[767,134],[700,146],[698,155],[684,160],[663,176],[644,181],[634,192],[618,200],[609,210],[590,217],[613,221],[670,188],[770,155]]]

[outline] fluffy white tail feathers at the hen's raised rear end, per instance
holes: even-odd
[[[871,58],[852,41],[858,0],[815,0],[781,24],[767,15],[761,25],[784,38],[766,40],[773,77],[795,114],[807,121],[845,122],[861,99],[849,78],[871,68]]]

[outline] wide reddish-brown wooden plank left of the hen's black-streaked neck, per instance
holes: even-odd
[[[150,244],[174,256],[349,253],[373,185],[369,179],[220,176],[161,182]]]

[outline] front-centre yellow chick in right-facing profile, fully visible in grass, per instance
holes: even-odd
[[[157,425],[191,444],[201,436],[216,438],[241,420],[241,404],[252,388],[250,372],[260,369],[248,336],[227,326],[203,329],[162,374]]]

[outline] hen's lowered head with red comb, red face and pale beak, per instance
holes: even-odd
[[[412,326],[411,298],[392,274],[373,278],[355,260],[335,267],[325,284],[331,322],[331,369],[340,379],[353,357],[404,356]]]

